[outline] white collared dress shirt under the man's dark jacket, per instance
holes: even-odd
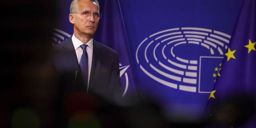
[[[92,39],[93,40],[93,39]],[[90,81],[90,72],[91,72],[91,68],[92,68],[92,50],[93,50],[93,41],[90,40],[89,42],[87,42],[87,47],[86,47],[86,52],[88,54],[88,83],[87,83],[87,91],[88,91],[88,87],[89,87],[89,81]],[[76,57],[78,60],[78,63],[80,63],[80,59],[81,56],[83,54],[83,49],[80,47],[80,45],[82,45],[83,43],[78,40],[74,34],[72,36],[72,42],[74,45],[74,48],[76,50]]]

